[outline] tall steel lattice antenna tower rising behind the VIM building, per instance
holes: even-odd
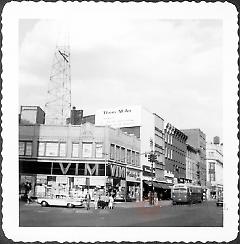
[[[71,72],[70,45],[65,39],[56,45],[50,80],[48,83],[47,102],[45,104],[45,123],[65,125],[71,112]]]

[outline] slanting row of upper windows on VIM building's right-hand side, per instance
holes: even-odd
[[[131,149],[121,147],[116,144],[110,145],[110,159],[131,164],[134,166],[140,166],[140,153]]]

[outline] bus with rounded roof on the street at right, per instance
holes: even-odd
[[[203,188],[190,184],[175,184],[172,191],[173,205],[178,203],[201,203],[203,201]]]

